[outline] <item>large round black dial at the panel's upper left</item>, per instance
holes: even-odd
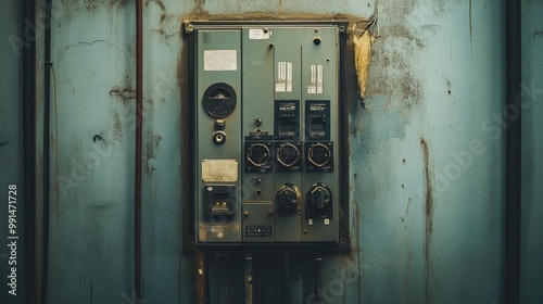
[[[203,105],[214,118],[225,118],[236,109],[236,91],[225,83],[213,84],[204,92]]]

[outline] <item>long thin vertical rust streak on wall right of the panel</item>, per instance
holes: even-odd
[[[431,278],[432,278],[432,259],[430,256],[430,245],[432,241],[433,230],[433,194],[429,165],[428,144],[425,139],[420,139],[420,148],[422,150],[422,160],[425,166],[425,302],[431,303]]]

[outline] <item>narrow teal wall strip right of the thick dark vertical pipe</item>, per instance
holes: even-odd
[[[521,301],[543,299],[543,1],[522,7]]]

